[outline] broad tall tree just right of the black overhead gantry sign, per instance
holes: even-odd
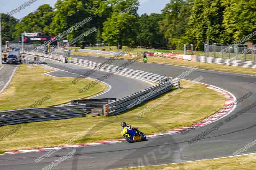
[[[53,22],[50,25],[52,33],[59,34],[68,30],[76,23],[83,21],[84,19],[91,17],[92,21],[87,22],[82,27],[69,33],[70,39],[76,38],[81,33],[88,31],[89,29],[96,27],[97,32],[91,33],[87,37],[84,37],[81,41],[76,42],[76,46],[81,43],[95,44],[96,41],[102,41],[101,33],[103,29],[103,22],[109,16],[107,12],[106,0],[58,0],[55,4],[56,15],[53,18]]]

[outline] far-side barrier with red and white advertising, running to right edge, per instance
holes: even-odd
[[[156,56],[156,54],[157,56],[159,56],[159,54],[162,54],[162,53],[145,52],[145,54],[147,56]],[[141,52],[141,55],[144,55],[144,52]],[[205,62],[205,63],[225,64],[225,65],[238,66],[238,67],[256,68],[256,62],[253,62],[253,61],[230,60],[230,59],[224,59],[224,58],[214,58],[214,57],[205,57],[205,56],[196,56],[196,55],[182,55],[182,54],[172,54],[172,53],[163,53],[162,57],[198,61],[198,62]]]

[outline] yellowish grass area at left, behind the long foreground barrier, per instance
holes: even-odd
[[[56,106],[68,103],[72,99],[96,95],[107,88],[105,84],[99,83],[94,88],[79,93],[78,90],[92,80],[83,79],[74,85],[74,78],[50,77],[43,74],[49,71],[52,70],[42,67],[29,69],[26,65],[20,65],[8,88],[0,94],[0,110],[27,108],[47,95],[51,95],[51,98],[37,107]]]

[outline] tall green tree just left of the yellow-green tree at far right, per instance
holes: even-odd
[[[203,42],[220,42],[224,7],[221,0],[195,0],[186,36],[196,48],[203,50]]]

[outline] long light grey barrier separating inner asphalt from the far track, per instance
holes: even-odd
[[[88,60],[77,59],[77,58],[72,58],[72,63],[84,65],[84,66],[91,67],[91,68],[96,68],[96,67],[100,66],[100,63],[96,63],[96,62],[92,62],[92,61],[88,61]],[[163,82],[169,80],[168,77],[148,73],[145,71],[133,70],[133,69],[128,69],[128,68],[122,68],[122,70],[119,70],[118,66],[114,66],[114,65],[106,65],[106,66],[100,68],[99,70],[113,71],[114,73],[118,73],[118,74],[121,74],[124,76],[145,79],[145,80],[149,80],[149,81],[153,81],[153,82],[157,82],[157,83],[163,83]],[[180,88],[179,79],[171,78],[171,81],[175,87]]]

